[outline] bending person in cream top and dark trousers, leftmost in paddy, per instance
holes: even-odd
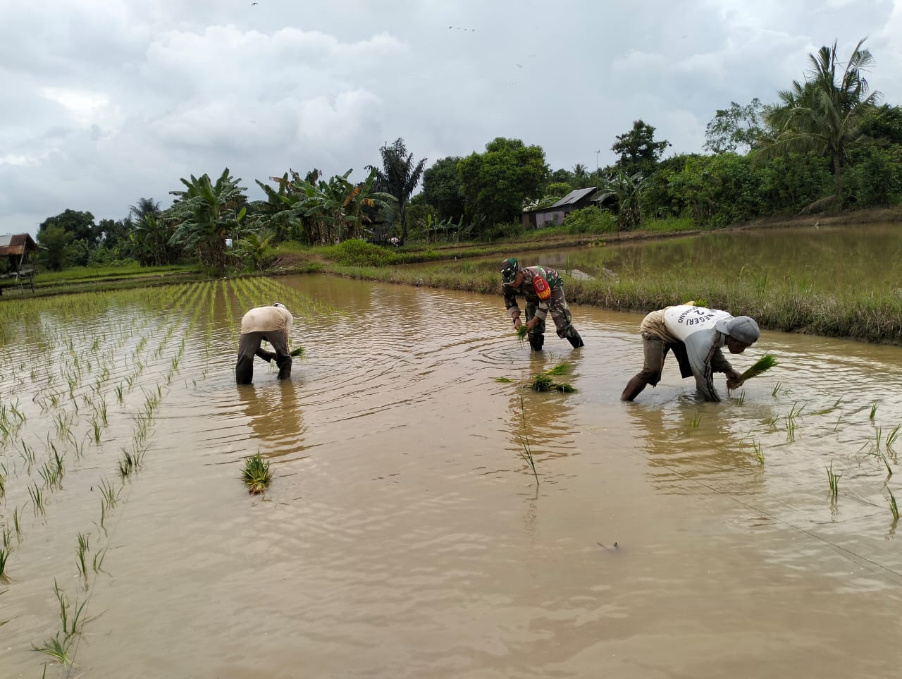
[[[272,306],[258,306],[244,314],[241,319],[241,338],[238,340],[238,362],[235,364],[235,382],[249,385],[253,382],[253,357],[259,356],[267,363],[276,360],[279,379],[291,377],[291,355],[288,336],[291,331],[291,312],[284,304],[275,302]],[[272,351],[260,348],[262,340],[272,344]]]

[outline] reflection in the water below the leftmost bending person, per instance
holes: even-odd
[[[304,450],[306,427],[302,417],[298,387],[294,380],[278,380],[265,385],[235,385],[254,441],[267,445],[261,450],[269,457]]]

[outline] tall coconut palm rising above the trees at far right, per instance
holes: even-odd
[[[779,103],[765,109],[765,117],[776,135],[762,148],[765,157],[775,153],[809,152],[825,155],[833,165],[833,196],[826,200],[842,203],[842,164],[848,148],[860,136],[862,122],[882,96],[869,94],[862,71],[873,64],[862,38],[843,67],[833,47],[824,45],[809,54],[805,83],[793,81],[792,88],[778,93]],[[823,204],[824,201],[818,201]]]

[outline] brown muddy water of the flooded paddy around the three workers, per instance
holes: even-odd
[[[640,315],[575,307],[584,349],[551,334],[536,356],[497,297],[282,284],[323,304],[292,309],[306,358],[288,382],[258,361],[235,386],[237,302],[216,305],[209,352],[189,330],[80,594],[100,617],[59,675],[897,676],[902,474],[869,453],[879,429],[897,470],[902,349],[765,331],[734,365],[780,365],[742,394],[704,404],[668,362],[623,404]],[[562,360],[575,394],[522,387]],[[27,378],[7,386],[33,410]],[[255,451],[274,472],[262,498],[239,479]],[[40,675],[53,579],[79,591],[75,536],[110,466],[82,460],[65,502],[23,514],[4,676]]]

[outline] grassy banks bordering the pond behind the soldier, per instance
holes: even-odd
[[[824,224],[899,219],[898,210],[820,218]],[[786,227],[794,224],[810,226],[813,221],[814,218],[788,221],[772,219],[742,228]],[[672,225],[673,222],[668,223]],[[686,228],[676,228],[669,232],[675,236],[686,236],[689,233],[691,231]],[[665,230],[662,229],[631,232],[625,237],[639,239],[663,235]],[[322,264],[319,270],[371,281],[501,294],[497,272],[479,269],[464,258],[492,255],[503,257],[511,254],[520,256],[531,249],[579,246],[624,237],[620,234],[599,237],[568,236],[562,233],[547,236],[540,241],[530,239],[466,249],[449,247],[444,256],[439,254],[437,248],[432,251],[426,249],[392,253],[381,248],[371,249],[365,244],[345,243],[323,248],[321,256],[328,262]],[[397,266],[437,259],[443,261],[417,268]],[[774,280],[744,269],[738,270],[729,278],[712,278],[688,267],[685,270],[646,270],[623,279],[575,280],[565,276],[565,280],[567,301],[576,304],[648,312],[690,299],[704,299],[713,308],[749,315],[759,321],[762,328],[769,330],[902,344],[902,291],[899,290],[887,289],[879,293],[859,293],[849,288],[824,290],[792,275]]]

